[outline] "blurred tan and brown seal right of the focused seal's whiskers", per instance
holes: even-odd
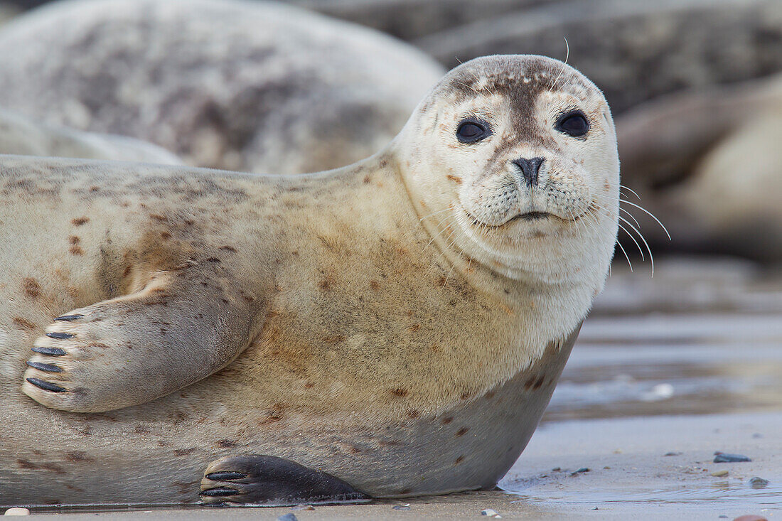
[[[782,260],[780,121],[782,76],[670,95],[620,117],[622,182],[671,233],[669,242],[637,215],[651,246]]]

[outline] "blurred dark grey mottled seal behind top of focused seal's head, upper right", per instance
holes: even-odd
[[[413,40],[446,66],[493,53],[565,59],[615,114],[658,95],[782,69],[779,0],[569,0]]]

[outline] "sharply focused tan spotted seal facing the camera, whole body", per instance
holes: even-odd
[[[604,285],[618,190],[601,92],[541,56],[457,67],[318,174],[0,157],[0,504],[493,486]]]

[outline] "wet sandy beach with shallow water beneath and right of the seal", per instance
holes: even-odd
[[[492,509],[501,519],[782,519],[782,270],[683,257],[658,259],[654,278],[648,264],[634,268],[614,267],[502,490],[296,511],[32,513],[401,520],[486,519],[481,512]],[[714,463],[718,451],[752,461]]]

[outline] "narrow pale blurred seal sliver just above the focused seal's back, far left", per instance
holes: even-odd
[[[0,109],[0,153],[183,164],[168,150],[139,139],[81,132],[4,109]]]

